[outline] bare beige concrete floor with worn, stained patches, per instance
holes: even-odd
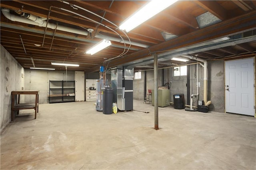
[[[1,134],[1,170],[256,169],[256,119],[154,107],[104,115],[94,102],[39,105]],[[27,110],[33,113],[33,110]],[[25,111],[26,112],[26,111]]]

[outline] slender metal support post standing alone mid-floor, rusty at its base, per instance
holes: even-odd
[[[158,130],[158,57],[154,54],[154,111],[155,111],[155,130]]]

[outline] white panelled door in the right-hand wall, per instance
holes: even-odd
[[[225,62],[226,112],[254,116],[254,58]]]

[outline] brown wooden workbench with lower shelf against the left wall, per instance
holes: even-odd
[[[20,95],[35,95],[35,103],[20,103]],[[18,100],[17,100],[18,97]],[[11,111],[11,121],[14,121],[16,115],[14,115],[14,111],[17,111],[17,115],[19,114],[19,110],[21,109],[34,109],[35,110],[35,119],[36,112],[38,113],[38,97],[39,91],[36,90],[17,90],[12,91],[12,111]]]

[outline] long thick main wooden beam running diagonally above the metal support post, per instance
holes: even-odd
[[[180,36],[178,38],[154,45],[147,49],[142,49],[138,52],[134,52],[130,55],[126,55],[121,58],[114,59],[110,61],[109,67],[114,67],[116,65],[122,65],[131,61],[138,59],[143,59],[145,57],[151,56],[154,51],[165,51],[171,49],[178,49],[186,47],[188,45],[193,45],[196,43],[202,43],[209,41],[218,37],[233,35],[237,32],[242,32],[243,30],[248,30],[255,28],[256,25],[256,11],[248,12],[247,14],[219,22],[212,26],[202,28],[195,32]],[[212,31],[214,30],[214,31]],[[99,66],[87,70],[87,73],[95,72],[99,70]]]

